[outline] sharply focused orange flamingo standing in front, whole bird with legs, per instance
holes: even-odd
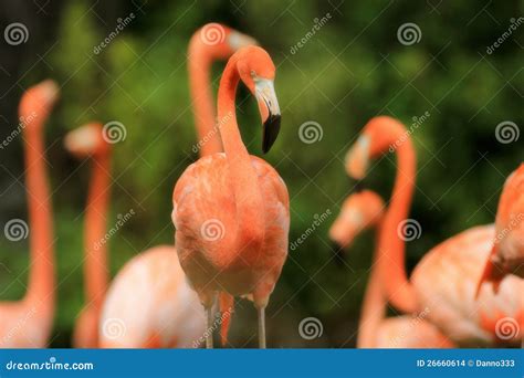
[[[241,80],[256,97],[268,153],[280,129],[275,67],[259,46],[235,52],[218,95],[224,153],[190,165],[175,186],[172,222],[180,264],[198,293],[208,329],[217,292],[248,296],[258,311],[259,347],[265,348],[265,307],[287,255],[290,202],[276,170],[250,156],[237,125],[234,96]],[[222,340],[224,335],[222,334]],[[212,333],[206,337],[212,348]]]

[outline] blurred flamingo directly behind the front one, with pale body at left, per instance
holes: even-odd
[[[213,128],[210,66],[253,43],[252,38],[218,23],[203,25],[190,40],[191,103],[202,156],[222,148]],[[202,306],[188,286],[175,246],[160,245],[132,259],[111,284],[99,322],[101,346],[196,347],[205,323]]]

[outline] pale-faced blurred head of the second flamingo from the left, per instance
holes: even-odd
[[[103,126],[99,123],[86,124],[67,133],[64,147],[70,154],[82,159],[109,153],[109,144],[104,138]]]

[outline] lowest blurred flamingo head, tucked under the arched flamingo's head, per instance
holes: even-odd
[[[384,200],[371,190],[350,195],[329,229],[329,239],[337,244],[337,250],[348,248],[360,232],[380,222],[384,210]]]

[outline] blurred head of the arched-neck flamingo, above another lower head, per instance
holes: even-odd
[[[363,179],[370,159],[387,150],[395,150],[402,143],[409,141],[408,137],[406,127],[395,118],[388,116],[371,118],[347,151],[345,161],[347,174],[357,180]]]

